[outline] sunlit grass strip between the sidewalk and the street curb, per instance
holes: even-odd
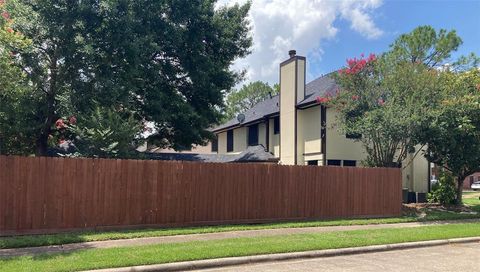
[[[0,259],[1,271],[77,271],[480,236],[480,223],[199,241]]]

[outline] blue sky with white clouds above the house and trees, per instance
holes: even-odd
[[[218,0],[218,5],[248,0]],[[347,58],[381,53],[420,25],[455,29],[458,53],[480,55],[480,0],[252,0],[252,54],[233,68],[247,80],[278,81],[279,63],[296,49],[307,56],[307,79],[339,69]]]

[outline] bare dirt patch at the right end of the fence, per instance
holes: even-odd
[[[423,218],[429,211],[450,212],[459,214],[478,214],[470,207],[464,205],[441,205],[435,203],[403,204],[403,215]]]

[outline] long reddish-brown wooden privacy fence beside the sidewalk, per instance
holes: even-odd
[[[0,156],[0,235],[401,214],[400,169]]]

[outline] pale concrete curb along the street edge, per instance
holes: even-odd
[[[292,259],[324,258],[324,257],[334,257],[334,256],[422,248],[422,247],[433,247],[433,246],[441,246],[441,245],[448,245],[448,244],[476,243],[476,242],[480,242],[480,237],[410,242],[410,243],[376,245],[376,246],[366,246],[366,247],[349,247],[349,248],[341,248],[341,249],[327,249],[327,250],[315,250],[315,251],[293,252],[293,253],[267,254],[267,255],[257,255],[257,256],[247,256],[247,257],[231,257],[231,258],[221,258],[221,259],[211,259],[211,260],[200,260],[200,261],[157,264],[157,265],[142,265],[142,266],[132,266],[132,267],[123,267],[123,268],[89,270],[89,271],[91,272],[93,271],[94,272],[188,271],[188,270],[207,269],[207,268],[225,267],[225,266],[233,266],[233,265],[286,261],[286,260],[292,260]]]

